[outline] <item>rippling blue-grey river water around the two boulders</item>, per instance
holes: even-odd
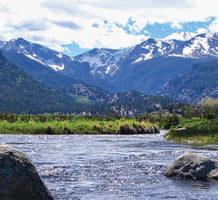
[[[25,152],[57,200],[218,199],[218,182],[173,180],[163,173],[184,152],[217,159],[153,135],[0,135]]]

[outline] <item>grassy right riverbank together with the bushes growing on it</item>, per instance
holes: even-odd
[[[197,106],[186,106],[186,118],[181,118],[178,127],[166,135],[168,140],[205,145],[218,144],[218,99],[206,97]]]

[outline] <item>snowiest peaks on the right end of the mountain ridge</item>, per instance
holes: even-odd
[[[189,35],[191,36],[192,34]],[[135,47],[133,51],[138,56],[133,56],[134,60],[132,60],[131,64],[143,62],[158,56],[184,58],[218,57],[217,46],[217,33],[200,34],[186,41],[149,38]]]

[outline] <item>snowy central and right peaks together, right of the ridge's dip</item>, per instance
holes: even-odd
[[[122,62],[134,65],[155,57],[201,58],[218,57],[217,33],[199,34],[177,32],[164,39],[148,38],[135,47],[126,49],[93,49],[74,57],[88,62],[93,75],[104,78],[114,76]],[[128,60],[128,61],[127,61]]]

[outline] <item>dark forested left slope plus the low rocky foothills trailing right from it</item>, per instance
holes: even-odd
[[[86,84],[62,90],[50,88],[0,54],[0,112],[134,116],[172,105],[178,102],[135,91],[111,94]]]

